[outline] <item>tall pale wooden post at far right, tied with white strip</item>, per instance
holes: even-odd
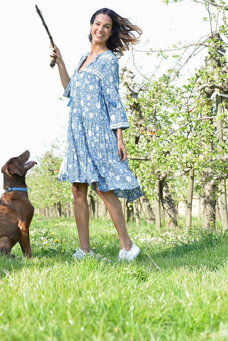
[[[218,82],[218,72],[215,72],[215,81]],[[218,92],[219,90],[216,89]],[[223,122],[222,119],[218,118],[222,114],[222,100],[221,96],[216,95],[216,129],[217,129],[217,136],[219,138],[219,143],[217,144],[217,150],[222,152],[223,143]],[[222,159],[223,153],[217,155],[218,160]],[[227,215],[227,201],[226,201],[226,181],[225,179],[219,180],[219,192],[220,192],[220,211],[221,211],[221,220],[222,220],[222,227],[223,231],[228,228],[228,215]]]

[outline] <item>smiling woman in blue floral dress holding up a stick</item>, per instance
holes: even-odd
[[[132,201],[142,191],[126,158],[122,130],[129,128],[129,124],[118,90],[119,63],[113,53],[123,55],[122,50],[129,50],[129,43],[138,43],[129,32],[142,34],[142,30],[107,8],[95,12],[90,23],[91,51],[81,56],[71,79],[59,49],[55,46],[55,53],[53,48],[50,51],[50,56],[56,58],[64,96],[70,98],[68,145],[58,180],[72,182],[80,241],[73,256],[81,259],[86,253],[93,255],[87,201],[91,184],[117,229],[121,248],[118,260],[131,261],[140,249],[128,235],[118,196]]]

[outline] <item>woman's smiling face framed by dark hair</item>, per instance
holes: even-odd
[[[111,33],[112,19],[106,14],[97,14],[91,24],[92,43],[106,45]]]

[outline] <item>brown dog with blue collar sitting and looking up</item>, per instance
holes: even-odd
[[[2,167],[3,189],[8,190],[0,198],[0,254],[10,255],[12,247],[19,242],[23,253],[29,258],[32,256],[29,225],[34,207],[28,198],[25,176],[37,162],[26,163],[29,157],[30,153],[26,150]]]

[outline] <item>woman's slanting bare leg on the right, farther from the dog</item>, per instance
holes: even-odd
[[[132,248],[132,240],[128,235],[128,231],[126,229],[126,223],[123,215],[122,206],[116,194],[111,191],[103,192],[99,191],[96,187],[96,183],[94,182],[94,188],[97,194],[102,198],[107,207],[107,210],[111,216],[113,224],[117,229],[117,233],[120,238],[120,249],[125,248],[126,251],[131,250]]]

